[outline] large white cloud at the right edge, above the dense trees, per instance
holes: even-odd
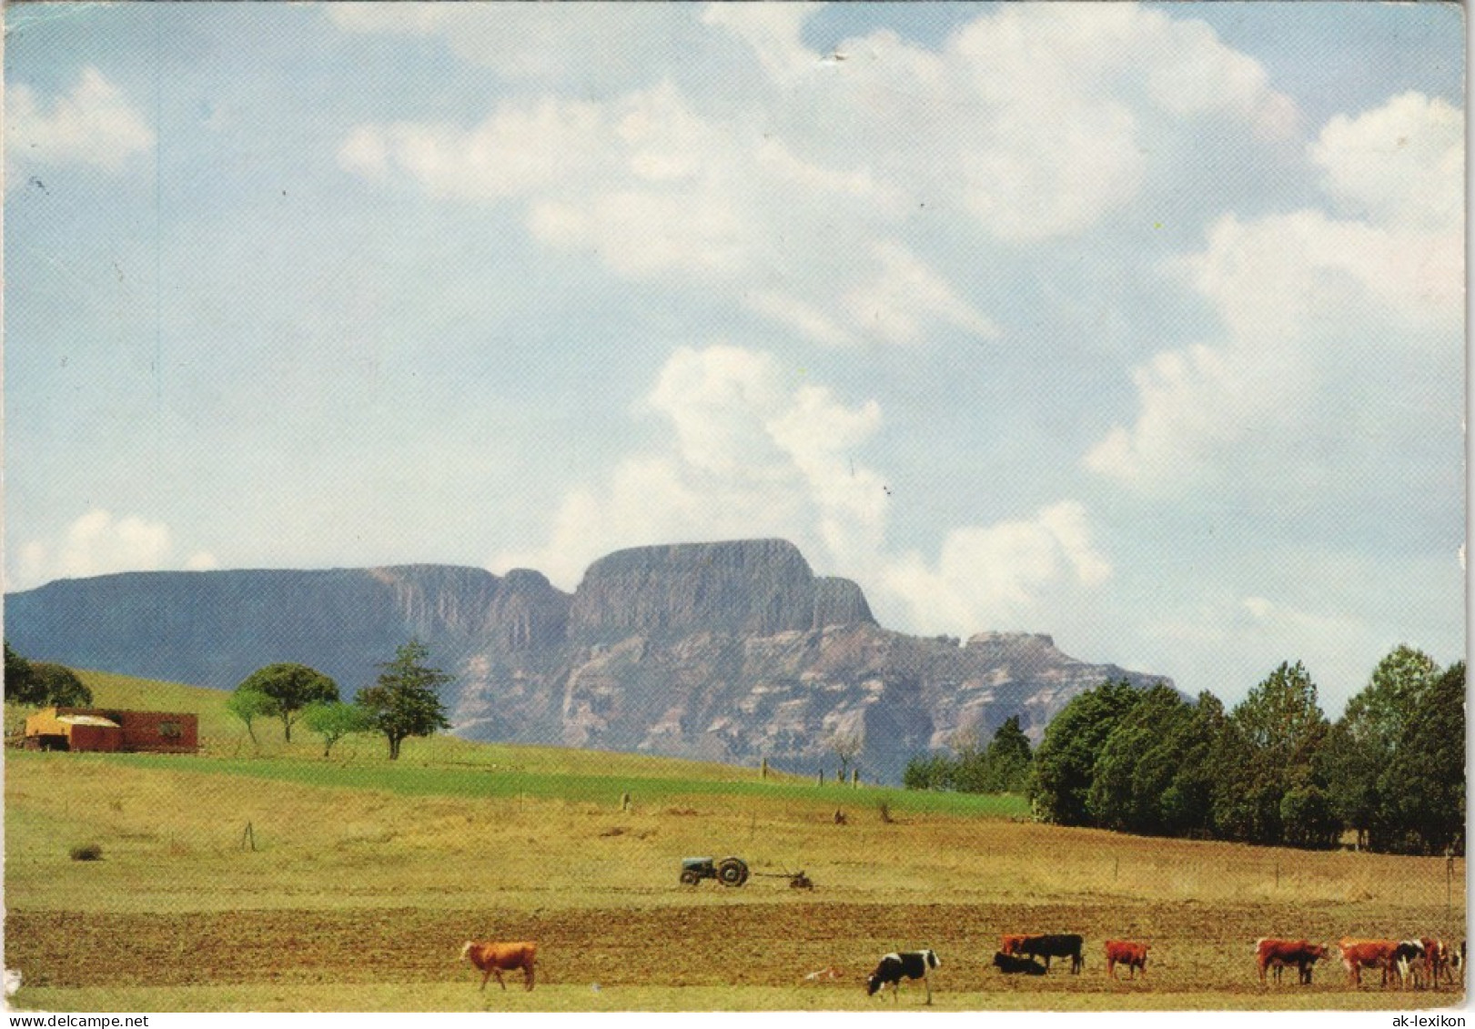
[[[1444,105],[1413,96],[1333,119],[1313,152],[1367,220],[1220,218],[1173,273],[1224,336],[1137,367],[1136,422],[1093,447],[1087,467],[1149,491],[1238,482],[1286,497],[1350,479],[1372,450],[1448,435],[1428,401],[1448,400],[1438,383],[1462,367],[1463,215],[1447,202],[1463,189],[1459,131]]]

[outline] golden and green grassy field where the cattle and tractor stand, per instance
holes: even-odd
[[[323,759],[310,734],[288,744],[261,722],[254,746],[221,693],[84,678],[99,705],[198,712],[204,750],[6,752],[19,1007],[869,1010],[879,1001],[860,982],[876,957],[912,946],[944,955],[943,1010],[1453,1000],[1351,991],[1330,963],[1311,986],[1261,988],[1252,945],[1460,939],[1463,861],[1447,890],[1443,859],[1152,840],[1032,824],[1018,798],[450,737],[410,740],[398,762],[369,737]],[[71,859],[83,843],[102,859]],[[698,854],[738,854],[763,874],[742,889],[680,886],[680,858]],[[796,868],[813,892],[780,877]],[[1086,973],[997,974],[1004,932],[1084,933]],[[457,957],[468,938],[538,941],[537,989],[512,976],[506,992],[478,992]],[[1112,938],[1152,945],[1146,979],[1105,976]],[[826,967],[841,977],[804,980]],[[903,988],[903,1007],[919,1000]]]

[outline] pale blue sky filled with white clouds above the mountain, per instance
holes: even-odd
[[[1454,4],[19,4],[4,588],[794,541],[1335,716],[1465,652]]]

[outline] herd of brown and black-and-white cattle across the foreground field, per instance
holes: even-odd
[[[994,967],[1004,974],[1043,976],[1050,970],[1052,958],[1069,958],[1071,973],[1080,974],[1086,967],[1086,939],[1077,933],[1010,933],[999,942],[999,952],[994,954]],[[1363,969],[1382,972],[1382,985],[1397,980],[1401,988],[1429,986],[1440,988],[1440,982],[1454,985],[1454,973],[1465,973],[1465,941],[1450,946],[1441,939],[1342,939],[1338,942],[1342,957],[1342,967],[1347,969],[1347,985],[1361,986]],[[1127,977],[1134,979],[1139,972],[1148,974],[1148,943],[1133,943],[1130,941],[1106,941],[1106,974],[1117,977],[1117,966],[1127,967]],[[1316,963],[1330,952],[1332,946],[1311,943],[1304,939],[1271,939],[1255,941],[1255,966],[1260,972],[1260,982],[1266,985],[1266,973],[1274,974],[1280,982],[1283,969],[1295,969],[1297,980],[1302,985],[1311,982],[1311,970]],[[462,946],[462,957],[469,958],[472,967],[482,973],[481,988],[487,988],[487,980],[497,976],[497,983],[506,989],[502,980],[503,972],[521,969],[524,985],[532,989],[534,966],[537,964],[538,945],[531,942],[518,943],[475,943],[466,941]],[[1043,964],[1040,958],[1044,958]],[[873,997],[881,989],[891,986],[892,1000],[898,1000],[898,988],[903,979],[920,979],[926,988],[926,1002],[932,1002],[932,982],[928,973],[943,964],[937,951],[892,951],[884,954],[876,970],[866,977],[866,994]],[[813,972],[805,979],[839,979],[838,969]]]

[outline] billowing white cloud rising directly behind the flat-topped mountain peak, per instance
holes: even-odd
[[[891,553],[885,478],[861,460],[884,423],[879,404],[796,382],[770,354],[681,348],[640,410],[670,423],[671,444],[569,492],[544,547],[493,566],[530,565],[572,588],[590,560],[620,547],[779,535],[919,631],[957,632],[1025,625],[1111,576],[1075,501],[953,529],[931,562]]]

